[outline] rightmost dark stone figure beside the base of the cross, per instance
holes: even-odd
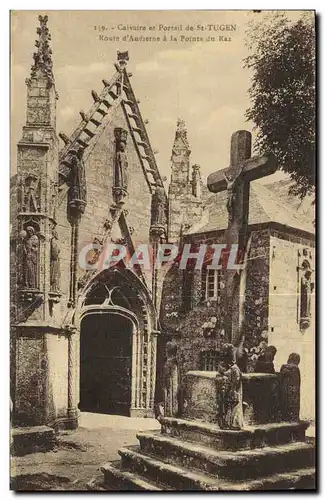
[[[280,370],[280,408],[284,421],[297,422],[300,413],[300,356],[292,352]]]

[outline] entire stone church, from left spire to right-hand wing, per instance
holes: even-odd
[[[222,243],[226,199],[209,193],[200,167],[191,166],[182,120],[165,192],[127,53],[118,53],[102,92],[91,91],[93,105],[80,111],[76,130],[57,136],[46,16],[37,32],[11,187],[14,422],[74,428],[79,410],[153,416],[167,339],[178,346],[180,383],[188,370],[216,368],[225,340],[218,322],[223,271],[209,272],[207,261],[200,271],[174,265],[145,272],[123,261],[105,268],[103,249],[114,243],[134,254],[141,243],[155,255],[160,243]],[[313,227],[294,217],[285,195],[279,203],[269,188],[251,191],[242,348],[248,369],[263,342],[277,347],[277,368],[298,352],[303,416],[313,418]]]

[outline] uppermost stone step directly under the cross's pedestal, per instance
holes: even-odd
[[[163,434],[218,450],[232,451],[305,441],[305,432],[309,426],[308,422],[281,422],[233,431],[221,430],[215,424],[199,420],[160,417],[159,421]]]

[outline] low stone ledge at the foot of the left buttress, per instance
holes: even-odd
[[[32,427],[13,427],[11,445],[13,455],[45,452],[52,450],[56,442],[55,432],[46,425]]]

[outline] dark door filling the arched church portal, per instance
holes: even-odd
[[[127,317],[109,311],[82,319],[81,411],[129,416],[133,327]]]

